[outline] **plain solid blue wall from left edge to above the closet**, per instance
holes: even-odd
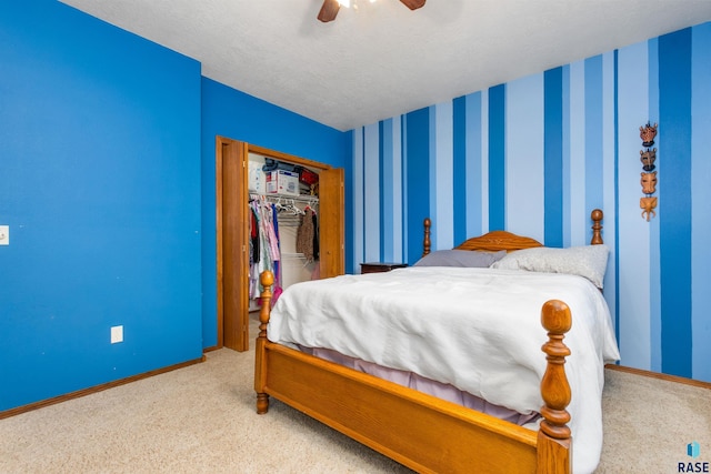
[[[53,0],[0,3],[0,411],[214,344],[216,134],[350,164],[350,133]]]

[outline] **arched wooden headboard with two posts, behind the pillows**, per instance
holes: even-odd
[[[595,209],[590,213],[592,219],[592,240],[591,245],[599,245],[602,243],[602,211]],[[424,220],[424,241],[422,243],[423,252],[422,256],[430,253],[432,242],[430,241],[430,231],[432,221],[429,218]],[[535,239],[521,236],[507,231],[491,231],[483,235],[467,239],[464,242],[455,246],[457,250],[480,250],[484,252],[498,252],[505,250],[512,252],[514,250],[531,249],[534,246],[543,246],[542,243]]]

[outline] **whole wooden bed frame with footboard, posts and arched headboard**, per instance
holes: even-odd
[[[602,243],[602,211],[594,210],[591,218],[591,243]],[[429,231],[425,220],[424,254],[430,248]],[[541,245],[501,231],[467,242],[472,249],[491,251]],[[261,284],[264,291],[254,366],[257,413],[267,413],[273,396],[422,473],[572,473],[570,414],[565,410],[571,391],[563,367],[570,350],[562,342],[571,314],[565,303],[552,300],[541,310],[549,337],[542,346],[548,365],[541,381],[543,418],[534,432],[270,342],[267,324],[273,275],[264,272]]]

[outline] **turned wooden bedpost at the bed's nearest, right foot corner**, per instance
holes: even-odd
[[[548,301],[541,310],[541,323],[548,331],[548,342],[541,347],[548,365],[541,380],[544,405],[538,433],[538,473],[569,474],[572,472],[572,437],[567,424],[570,413],[565,407],[570,403],[570,384],[563,364],[570,349],[563,344],[563,337],[572,325],[570,309],[562,301]]]

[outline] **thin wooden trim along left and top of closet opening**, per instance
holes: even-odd
[[[224,315],[224,218],[223,218],[223,160],[224,155],[230,152],[238,153],[238,148],[247,147],[247,153],[260,154],[268,158],[273,158],[276,160],[287,161],[293,164],[300,164],[302,167],[316,168],[319,170],[331,170],[333,167],[326,163],[319,163],[317,161],[311,161],[304,158],[299,158],[292,154],[282,153],[279,151],[270,150],[263,147],[258,147],[251,143],[246,143],[232,139],[228,139],[226,137],[216,137],[216,162],[214,162],[214,189],[216,189],[216,263],[217,263],[217,333],[218,341],[216,349],[222,349],[224,346],[224,325],[226,325],[226,315]],[[227,150],[227,152],[226,152]],[[234,150],[234,151],[232,151]],[[247,170],[244,170],[247,173]],[[244,190],[244,202],[247,203],[248,190]],[[227,321],[230,324],[238,324],[239,321]],[[246,334],[246,341],[243,344],[240,344],[239,351],[247,351],[249,349],[249,323],[244,327],[240,327],[240,331],[243,331]]]

